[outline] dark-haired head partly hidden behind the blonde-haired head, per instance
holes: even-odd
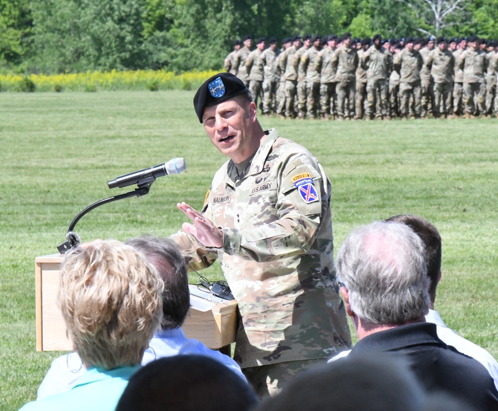
[[[152,236],[132,238],[126,244],[143,253],[164,281],[162,328],[180,327],[190,308],[190,293],[187,266],[178,246],[170,239]]]

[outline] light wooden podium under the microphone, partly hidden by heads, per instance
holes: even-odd
[[[62,314],[56,305],[59,287],[61,254],[36,257],[36,350],[71,351]],[[182,325],[188,338],[195,338],[211,349],[220,349],[235,342],[237,301],[224,300],[190,288],[190,310]]]

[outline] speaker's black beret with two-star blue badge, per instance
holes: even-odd
[[[218,73],[207,79],[194,96],[194,110],[199,122],[206,107],[230,100],[247,92],[244,82],[232,73]]]

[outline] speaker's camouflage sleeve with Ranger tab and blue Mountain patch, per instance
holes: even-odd
[[[268,205],[276,209],[278,219],[250,229],[223,228],[225,253],[268,262],[309,251],[330,207],[330,182],[309,154],[292,156],[282,165],[277,202]],[[253,218],[264,215],[263,206]]]

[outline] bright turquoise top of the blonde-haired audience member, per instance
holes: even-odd
[[[114,411],[129,378],[139,367],[90,367],[83,370],[69,391],[28,403],[20,411]]]

